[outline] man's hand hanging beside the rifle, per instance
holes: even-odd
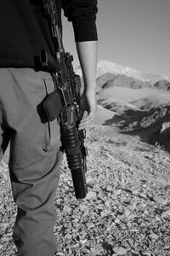
[[[78,129],[82,130],[88,128],[88,126],[92,125],[94,121],[95,112],[97,108],[95,90],[83,92],[79,107],[80,123]],[[84,111],[87,111],[88,115],[83,118]]]

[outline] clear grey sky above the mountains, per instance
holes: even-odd
[[[170,0],[98,0],[98,60],[170,77]],[[65,50],[77,60],[71,22]]]

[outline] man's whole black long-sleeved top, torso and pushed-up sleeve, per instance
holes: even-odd
[[[57,0],[72,22],[75,40],[97,40],[97,0]],[[35,67],[41,49],[54,54],[42,0],[3,0],[0,8],[0,67]]]

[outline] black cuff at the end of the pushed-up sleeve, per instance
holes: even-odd
[[[73,20],[72,25],[76,42],[98,40],[95,20]]]

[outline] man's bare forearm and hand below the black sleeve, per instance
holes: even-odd
[[[77,43],[77,53],[82,67],[84,79],[84,91],[80,103],[80,125],[79,129],[85,129],[94,121],[97,108],[96,103],[96,63],[97,63],[97,41]],[[82,118],[84,111],[88,115]]]

